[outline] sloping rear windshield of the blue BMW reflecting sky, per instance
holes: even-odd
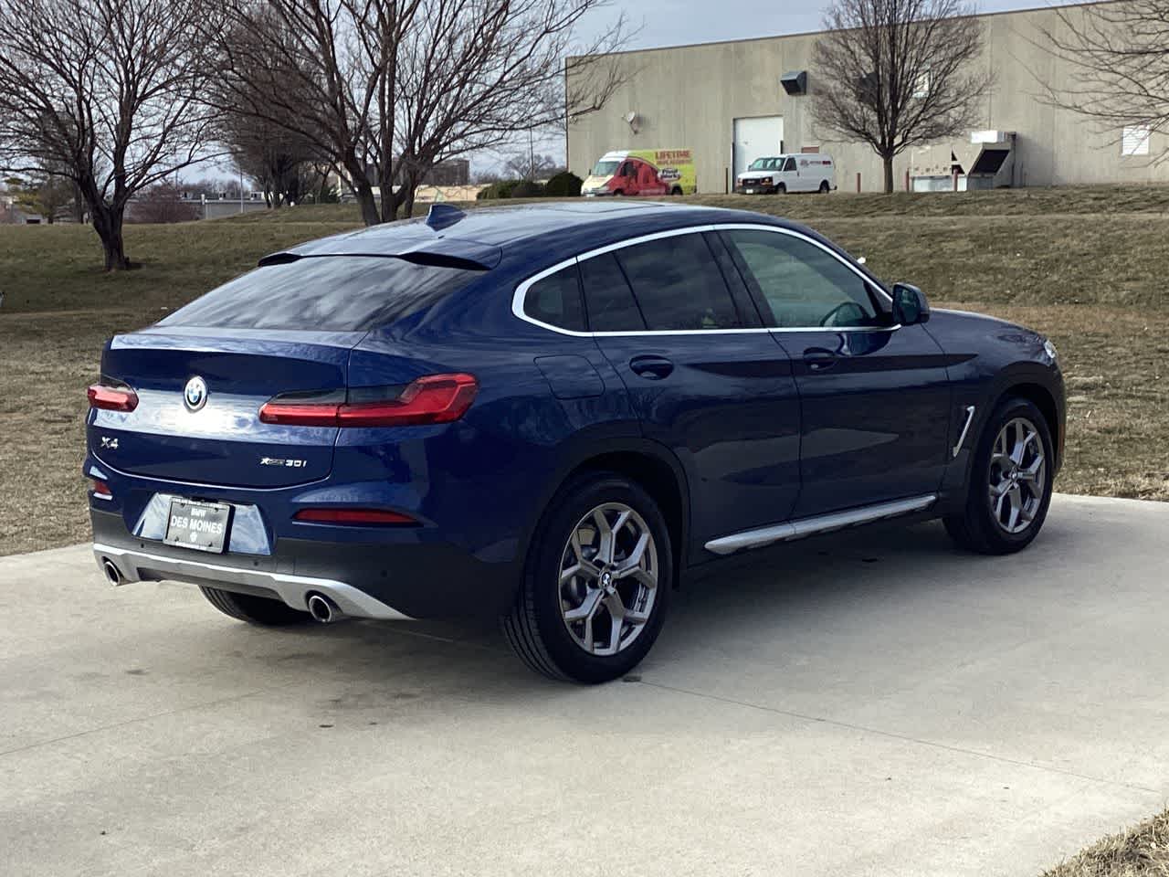
[[[388,256],[309,256],[236,277],[159,325],[365,331],[428,308],[482,274]]]

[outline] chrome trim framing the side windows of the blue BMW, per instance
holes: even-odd
[[[535,317],[528,316],[524,311],[524,299],[527,298],[527,291],[531,289],[532,284],[542,281],[545,277],[561,271],[569,265],[579,265],[581,262],[593,258],[594,256],[601,256],[606,253],[613,253],[614,250],[624,249],[625,247],[635,247],[639,243],[648,243],[649,241],[657,241],[663,237],[677,237],[679,235],[687,234],[705,234],[706,232],[724,232],[734,229],[748,229],[754,232],[772,232],[775,234],[786,234],[791,237],[798,237],[801,241],[818,247],[824,250],[828,255],[835,258],[837,262],[843,264],[850,271],[852,271],[857,277],[859,277],[864,283],[873,286],[881,296],[884,296],[890,304],[893,303],[892,296],[885,288],[872,281],[871,277],[860,271],[856,265],[851,264],[846,258],[842,257],[841,254],[832,250],[830,247],[825,247],[819,241],[809,237],[801,232],[796,232],[791,228],[782,228],[780,226],[768,226],[758,222],[718,222],[714,225],[706,223],[701,226],[686,226],[685,228],[671,228],[666,232],[655,232],[648,235],[641,235],[638,237],[630,237],[627,241],[617,241],[616,243],[609,243],[604,247],[597,247],[596,249],[587,250],[570,258],[566,258],[551,268],[545,268],[539,274],[534,274],[527,279],[519,283],[516,286],[516,292],[512,294],[512,313],[525,323],[531,323],[533,326],[539,326],[540,329],[546,329],[549,332],[556,332],[558,334],[566,334],[573,338],[620,338],[629,336],[669,336],[669,334],[752,334],[761,332],[895,332],[900,329],[900,324],[893,326],[761,326],[754,329],[638,329],[628,331],[614,331],[614,332],[579,332],[574,329],[561,329],[560,326],[554,326],[551,323],[545,323]],[[583,295],[583,289],[581,290]]]

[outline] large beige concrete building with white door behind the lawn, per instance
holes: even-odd
[[[1169,181],[1169,161],[1157,161],[1169,147],[1164,134],[1100,131],[1082,116],[1042,99],[1042,83],[1067,82],[1073,75],[1067,62],[1043,48],[1044,30],[1060,27],[1051,8],[980,15],[976,21],[984,32],[980,63],[994,74],[995,84],[978,97],[978,118],[962,137],[911,149],[898,158],[897,188],[905,186],[907,172],[915,189],[952,188],[956,167],[964,187],[964,174],[984,150],[1010,151],[998,178],[984,179],[984,185]],[[878,156],[865,144],[842,141],[812,119],[817,89],[811,56],[819,36],[794,34],[615,55],[629,83],[603,110],[569,129],[569,168],[584,177],[609,150],[689,147],[694,152],[698,191],[718,193],[733,187],[735,173],[754,158],[819,149],[832,156],[841,191],[855,191],[858,174],[862,189],[880,191]],[[788,94],[782,80],[800,72],[807,74],[805,94]],[[974,187],[975,180],[970,184]]]

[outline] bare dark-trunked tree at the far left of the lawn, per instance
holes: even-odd
[[[106,270],[134,193],[201,158],[208,0],[0,0],[0,165],[71,180]]]

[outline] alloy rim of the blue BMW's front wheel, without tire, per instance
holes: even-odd
[[[1003,424],[990,453],[990,512],[1007,533],[1022,533],[1035,520],[1047,489],[1043,438],[1026,417]]]

